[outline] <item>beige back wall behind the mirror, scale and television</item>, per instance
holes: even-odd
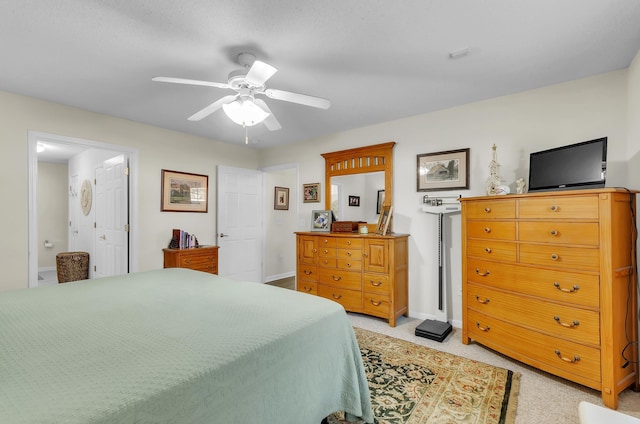
[[[489,176],[491,145],[498,146],[501,175],[514,188],[528,178],[529,153],[597,137],[609,137],[608,186],[634,186],[627,176],[627,71],[544,87],[511,96],[358,128],[299,145],[270,149],[263,166],[297,161],[300,181],[322,181],[321,153],[396,141],[394,154],[394,231],[409,233],[409,313],[437,316],[437,219],[421,212],[424,192],[416,190],[416,155],[471,149],[469,190],[441,195],[482,195]],[[434,194],[434,193],[429,193]],[[324,191],[323,203],[324,205]],[[299,230],[308,228],[313,206],[299,207]],[[460,217],[446,224],[452,290],[450,315],[461,319]]]

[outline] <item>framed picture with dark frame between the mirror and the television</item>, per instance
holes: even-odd
[[[418,155],[418,191],[469,188],[469,149]]]

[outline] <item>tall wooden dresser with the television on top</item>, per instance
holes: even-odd
[[[602,392],[638,385],[635,194],[462,201],[462,342]]]

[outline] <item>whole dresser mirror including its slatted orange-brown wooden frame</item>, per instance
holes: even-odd
[[[395,141],[324,153],[325,208],[338,221],[376,225],[379,212],[393,199]]]

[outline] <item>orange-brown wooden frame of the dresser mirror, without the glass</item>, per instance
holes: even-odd
[[[393,200],[393,147],[395,141],[357,147],[355,149],[322,153],[324,158],[324,202],[331,210],[331,177],[384,171],[384,203],[391,206]]]

